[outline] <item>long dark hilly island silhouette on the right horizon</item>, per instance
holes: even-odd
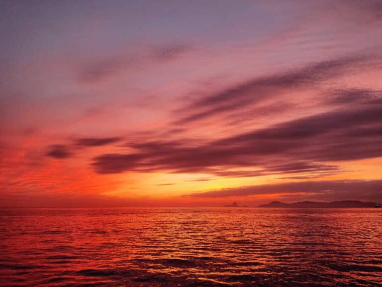
[[[363,202],[358,200],[342,200],[332,202],[314,202],[302,201],[294,203],[284,203],[280,201],[272,201],[267,204],[260,204],[259,207],[290,207],[290,208],[343,208],[343,207],[375,207],[375,202]]]

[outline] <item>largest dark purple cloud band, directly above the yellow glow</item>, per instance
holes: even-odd
[[[199,145],[187,140],[130,144],[135,153],[101,155],[93,165],[100,173],[145,170],[220,176],[324,175],[340,171],[340,167],[327,164],[333,161],[382,156],[381,146],[382,105],[365,105]],[[245,171],[240,170],[244,167]]]

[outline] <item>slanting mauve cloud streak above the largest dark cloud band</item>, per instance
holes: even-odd
[[[370,56],[343,57],[314,63],[286,73],[252,79],[197,99],[190,105],[175,111],[177,115],[188,114],[176,120],[175,124],[184,125],[222,113],[240,111],[242,108],[258,105],[289,90],[311,89],[323,81],[337,78],[362,67],[361,64],[366,64],[370,59]]]

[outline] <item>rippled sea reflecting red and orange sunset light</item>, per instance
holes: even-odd
[[[0,209],[1,286],[382,286],[382,209]]]

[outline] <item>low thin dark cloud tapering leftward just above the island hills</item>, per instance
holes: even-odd
[[[207,192],[193,193],[190,197],[232,197],[264,194],[322,194],[327,198],[362,198],[382,199],[382,180],[331,180],[331,181],[302,181],[280,184],[264,184],[225,188]]]

